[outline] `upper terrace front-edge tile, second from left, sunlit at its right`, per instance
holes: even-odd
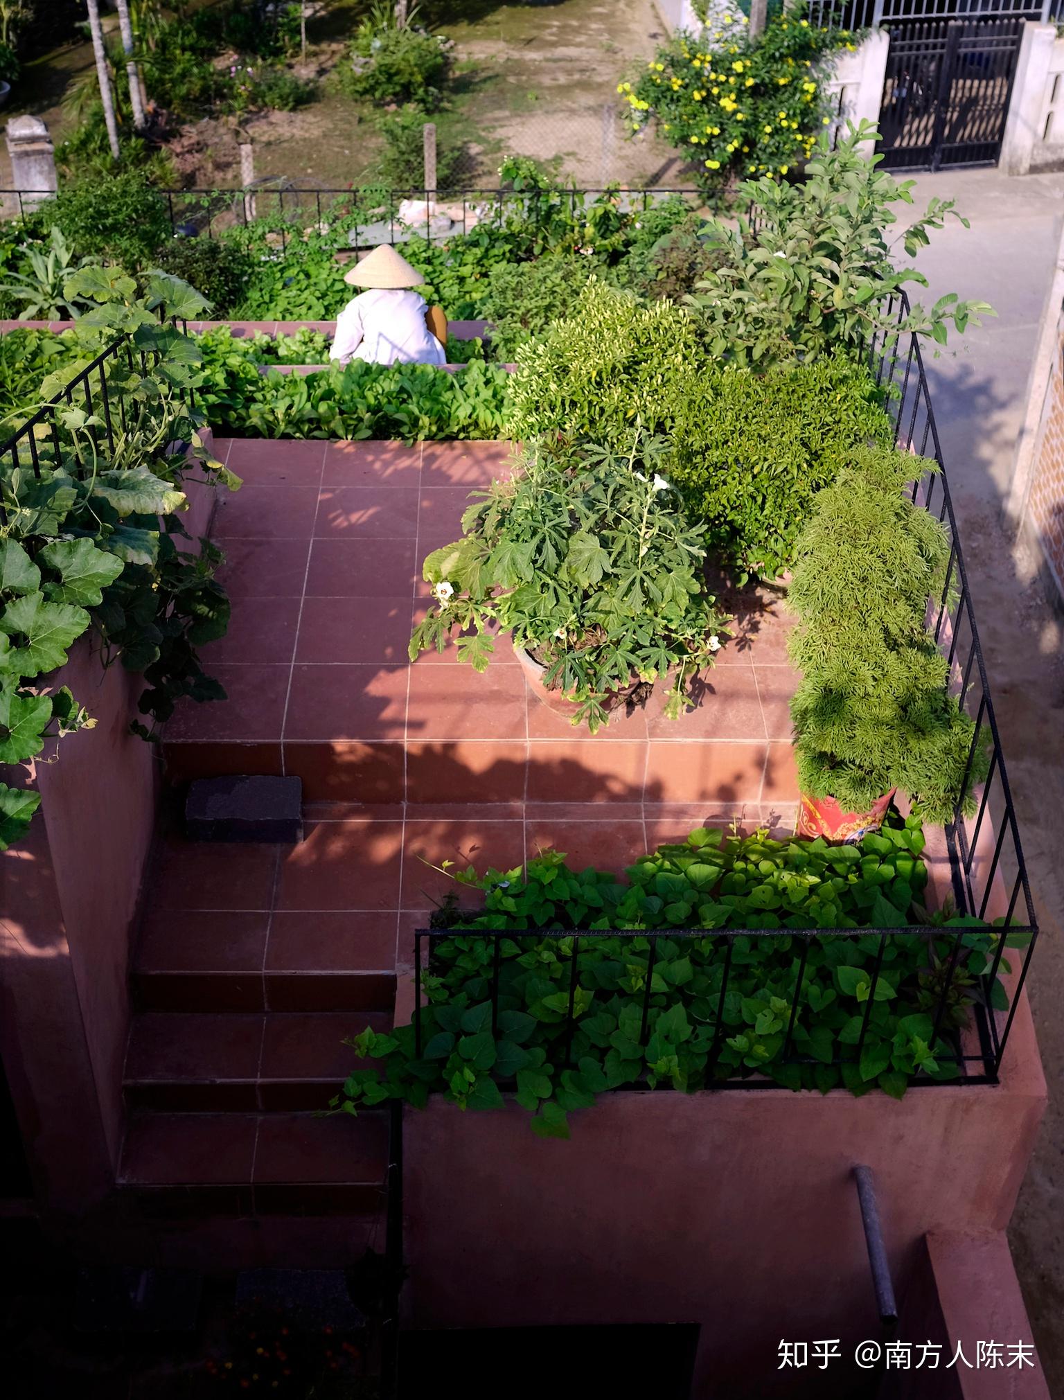
[[[407,683],[407,666],[297,665],[284,739],[402,742]]]

